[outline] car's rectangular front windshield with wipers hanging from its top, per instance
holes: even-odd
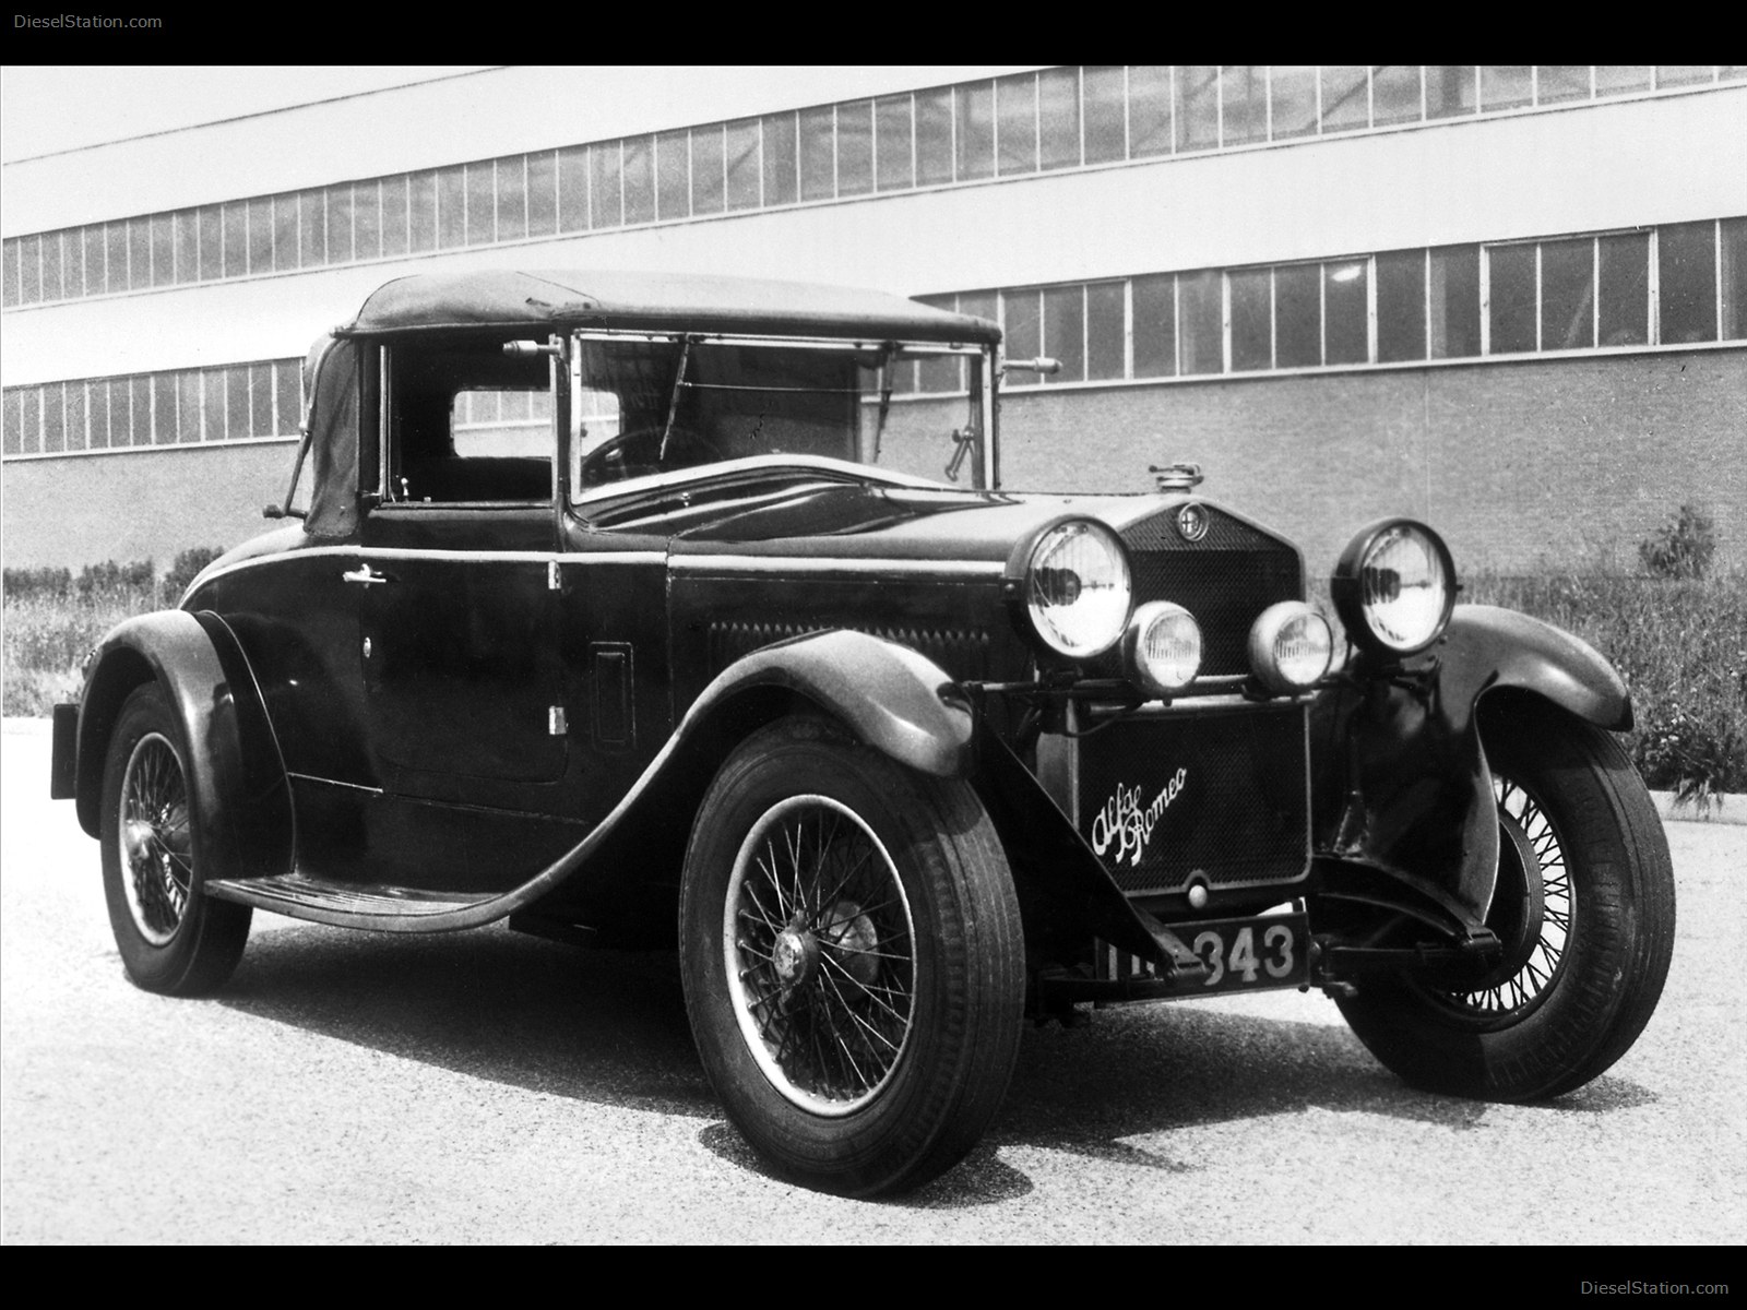
[[[933,479],[949,465],[954,477],[980,472],[975,349],[589,334],[573,346],[570,486],[578,496],[749,456],[823,456]],[[924,395],[922,379],[947,370],[961,390]]]

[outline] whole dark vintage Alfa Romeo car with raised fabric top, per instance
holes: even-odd
[[[220,987],[255,908],[676,945],[727,1114],[849,1195],[1095,1004],[1319,987],[1466,1097],[1607,1069],[1674,940],[1621,679],[1457,606],[1410,519],[1331,625],[1193,466],[1005,489],[999,381],[1048,367],[872,292],[388,283],[307,360],[292,522],[58,707],[128,975]]]

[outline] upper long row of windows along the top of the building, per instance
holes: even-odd
[[[1088,66],[5,241],[5,307],[1747,79],[1726,66]]]

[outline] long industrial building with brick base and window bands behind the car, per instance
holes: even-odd
[[[1312,573],[1382,514],[1630,562],[1686,501],[1744,564],[1744,161],[1740,65],[496,68],[24,159],[5,561],[232,545],[370,290],[597,267],[998,318],[1062,365],[1006,486],[1195,461]]]

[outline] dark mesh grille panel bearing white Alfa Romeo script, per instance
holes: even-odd
[[[1310,849],[1305,707],[1122,720],[1078,742],[1080,831],[1125,893],[1302,879]]]

